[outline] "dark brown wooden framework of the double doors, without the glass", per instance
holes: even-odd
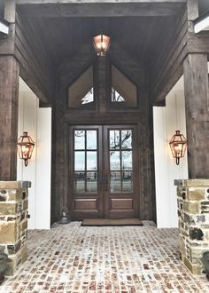
[[[133,131],[133,192],[127,194],[120,194],[120,198],[117,194],[110,194],[106,191],[106,186],[104,184],[105,175],[107,173],[107,164],[109,164],[108,157],[108,130],[128,130]],[[115,213],[116,218],[120,217],[120,211],[115,209],[117,206],[121,206],[121,212],[124,215],[130,215],[130,210],[127,210],[124,206],[124,202],[130,208],[133,205],[134,217],[138,216],[139,211],[139,188],[137,176],[139,174],[138,166],[138,152],[137,152],[137,124],[115,124],[115,125],[68,125],[68,155],[69,155],[69,172],[68,172],[68,196],[70,199],[70,210],[72,218],[81,219],[82,215],[85,218],[107,218],[112,217],[112,213]],[[74,193],[74,158],[72,152],[74,152],[74,130],[97,130],[97,149],[98,149],[98,162],[97,162],[97,194],[75,194]],[[70,139],[72,138],[72,139]],[[137,164],[135,165],[135,162]],[[71,178],[70,178],[71,177]],[[73,178],[73,179],[72,179]],[[109,211],[109,201],[112,198],[112,211]],[[132,203],[130,200],[132,199]],[[89,202],[89,208],[84,209],[85,204],[83,202]],[[120,203],[117,202],[120,200]],[[95,203],[94,203],[95,202]],[[77,205],[76,205],[77,204]],[[92,209],[92,207],[97,207],[98,210]],[[81,209],[77,209],[80,207]],[[91,207],[91,208],[90,208]],[[85,215],[85,216],[84,216]],[[117,216],[118,215],[118,216]],[[126,216],[124,216],[126,217]]]

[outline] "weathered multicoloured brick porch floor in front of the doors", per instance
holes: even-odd
[[[144,225],[29,231],[27,262],[0,292],[209,292],[179,261],[178,230]]]

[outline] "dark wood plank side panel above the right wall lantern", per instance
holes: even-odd
[[[151,71],[151,100],[153,104],[165,99],[167,93],[182,76],[182,60],[187,53],[188,20],[187,11],[183,11],[176,21],[176,27],[170,32],[170,37],[161,55]]]

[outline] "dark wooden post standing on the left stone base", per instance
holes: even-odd
[[[0,180],[15,180],[17,177],[19,63],[12,55],[14,0],[5,2],[4,17],[11,25],[9,36],[4,37],[4,43],[0,43]]]

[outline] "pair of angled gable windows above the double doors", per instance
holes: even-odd
[[[69,110],[87,113],[137,111],[138,86],[109,59],[105,59],[105,63],[100,61],[91,64],[68,86]]]

